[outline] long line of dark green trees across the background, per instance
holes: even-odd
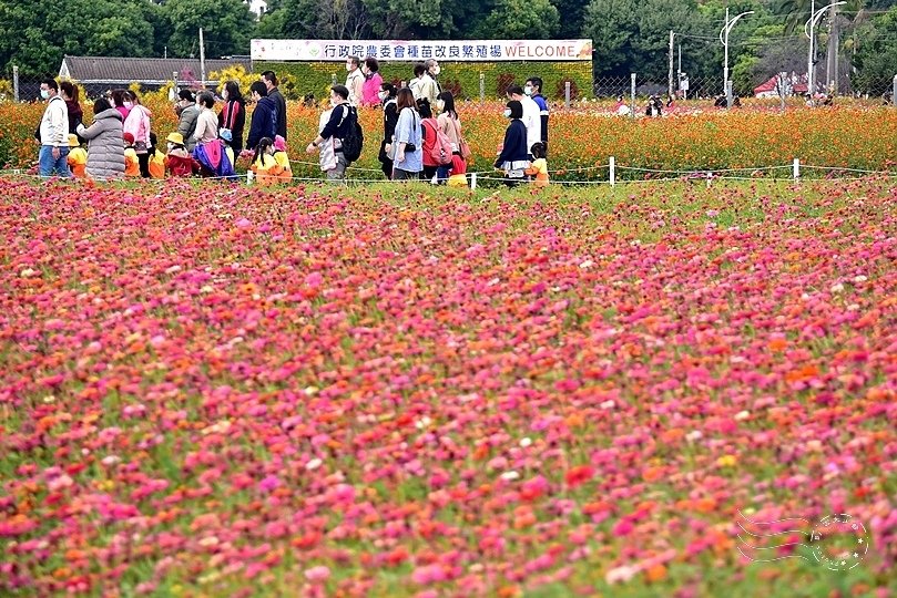
[[[732,16],[754,11],[730,35],[736,91],[750,93],[778,71],[806,71],[809,0],[727,6]],[[258,19],[243,0],[0,0],[0,65],[48,74],[64,54],[198,56],[202,27],[210,58],[247,54],[252,38],[591,38],[597,78],[636,72],[664,81],[672,30],[676,68],[681,48],[690,76],[721,78],[725,8],[725,0],[268,0]],[[837,40],[843,78],[897,72],[897,0],[849,0],[817,33],[823,64]]]

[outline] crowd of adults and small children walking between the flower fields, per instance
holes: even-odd
[[[414,78],[400,89],[384,81],[374,58],[349,56],[346,71],[346,83],[330,89],[330,106],[320,115],[318,135],[306,147],[309,154],[319,153],[328,181],[344,179],[360,154],[364,132],[357,106],[376,106],[383,110],[378,159],[387,179],[467,185],[470,147],[455,96],[439,84],[436,60],[416,64]],[[39,174],[96,181],[230,178],[235,176],[236,159],[244,157],[259,183],[289,181],[286,101],[276,73],[262,73],[248,93],[254,110],[247,126],[247,101],[237,82],[224,84],[220,101],[208,90],[195,94],[180,90],[174,105],[177,128],[160,146],[153,113],[137,93],[110,90],[93,103],[92,124],[85,126],[78,87],[45,79],[41,96],[47,107],[35,132],[41,145]],[[524,86],[511,85],[507,99],[509,122],[495,167],[508,185],[523,181],[546,185],[549,110],[542,80],[534,76]]]

